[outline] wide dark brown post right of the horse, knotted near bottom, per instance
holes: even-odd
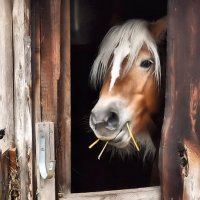
[[[200,198],[199,10],[199,1],[169,1],[166,109],[161,143],[164,199]],[[189,165],[186,162],[185,167],[180,166],[180,144],[187,149],[183,154]]]

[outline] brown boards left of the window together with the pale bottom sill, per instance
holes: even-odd
[[[71,193],[70,0],[35,1],[32,4],[32,24],[35,49],[32,56],[33,124],[41,121],[55,123],[55,179],[41,180],[38,164],[35,166],[35,192],[39,192],[40,199],[160,199],[159,186]]]

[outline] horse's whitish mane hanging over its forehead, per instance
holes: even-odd
[[[114,26],[109,30],[93,63],[90,74],[91,84],[96,88],[104,80],[107,70],[112,67],[111,89],[119,76],[124,58],[128,56],[128,62],[124,69],[125,72],[128,72],[144,44],[154,56],[154,73],[159,84],[161,69],[157,45],[149,33],[148,23],[142,20],[129,20],[125,24]],[[112,60],[110,60],[111,58]]]

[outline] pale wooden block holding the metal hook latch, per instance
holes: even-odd
[[[54,123],[36,123],[37,153],[40,176],[50,179],[55,175]]]

